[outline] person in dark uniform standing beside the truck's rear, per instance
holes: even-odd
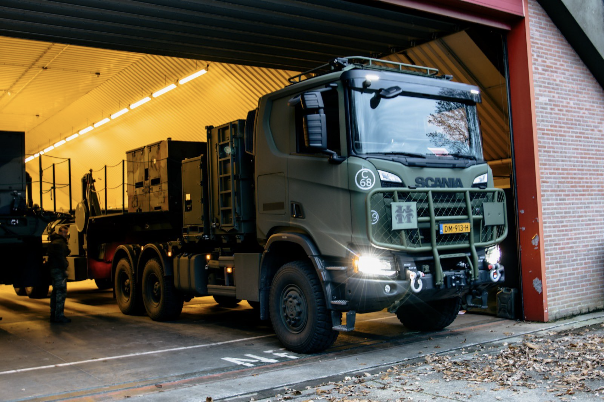
[[[69,227],[62,225],[59,233],[50,235],[48,245],[48,266],[53,280],[53,293],[50,296],[50,322],[71,322],[63,313],[67,297],[67,256],[71,250],[67,247]]]

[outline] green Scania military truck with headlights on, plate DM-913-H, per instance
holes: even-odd
[[[72,250],[112,278],[123,313],[247,300],[300,353],[352,331],[356,313],[444,328],[503,281],[507,234],[480,90],[451,78],[365,57],[291,77],[206,142],[128,151],[127,213],[90,207],[86,175]]]

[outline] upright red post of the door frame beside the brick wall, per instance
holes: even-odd
[[[507,34],[510,104],[514,143],[518,243],[524,318],[548,321],[545,250],[541,204],[541,174],[535,116],[535,87],[528,20],[528,1],[522,0],[524,18]]]

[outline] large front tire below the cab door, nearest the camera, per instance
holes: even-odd
[[[338,331],[332,330],[323,288],[309,261],[289,262],[277,271],[269,312],[275,334],[288,350],[323,351],[338,338]]]

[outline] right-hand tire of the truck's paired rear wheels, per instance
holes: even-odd
[[[165,277],[161,263],[150,259],[143,269],[143,305],[153,321],[171,321],[182,312],[184,298],[174,287],[172,277]]]

